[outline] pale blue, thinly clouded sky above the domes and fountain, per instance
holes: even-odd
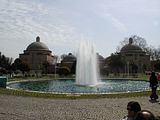
[[[104,58],[131,35],[160,45],[160,0],[0,0],[0,52],[13,59],[40,36],[53,55],[89,40]]]

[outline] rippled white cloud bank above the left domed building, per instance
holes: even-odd
[[[63,47],[61,49],[65,51],[64,46],[72,48],[77,43],[79,34],[61,18],[62,14],[60,9],[50,8],[40,2],[1,0],[1,42],[7,44],[10,41],[14,46],[17,46],[17,43],[23,44],[21,48],[17,48],[17,54],[24,50],[24,45],[34,42],[37,35],[50,49]]]

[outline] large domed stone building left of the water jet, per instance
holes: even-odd
[[[42,71],[43,65],[53,64],[54,56],[49,48],[40,42],[40,37],[36,38],[36,42],[31,43],[24,53],[19,54],[19,58],[22,62],[29,65],[32,71]]]

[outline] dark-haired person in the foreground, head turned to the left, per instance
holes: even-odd
[[[134,120],[137,112],[141,111],[141,106],[136,101],[130,101],[127,104],[128,115],[124,116],[122,120]]]

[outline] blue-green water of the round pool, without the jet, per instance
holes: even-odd
[[[9,88],[40,91],[40,92],[55,92],[55,93],[114,93],[114,92],[135,92],[145,91],[149,89],[149,82],[143,80],[102,80],[100,84],[91,87],[77,85],[74,79],[60,80],[40,80],[40,81],[25,81],[8,84]]]

